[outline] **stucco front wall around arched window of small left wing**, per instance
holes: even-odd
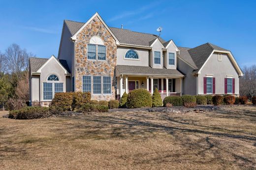
[[[43,101],[43,83],[47,82],[47,78],[51,74],[55,74],[59,77],[60,82],[56,82],[56,83],[63,83],[63,91],[64,92],[66,91],[66,76],[65,76],[64,69],[58,64],[58,62],[55,59],[51,59],[41,70],[40,101]]]

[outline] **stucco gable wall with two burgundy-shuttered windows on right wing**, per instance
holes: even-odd
[[[214,53],[198,75],[198,94],[203,94],[203,78],[206,75],[215,77],[215,94],[224,94],[224,78],[232,76],[235,79],[235,94],[239,94],[239,77],[229,57],[222,54],[222,61],[218,61],[218,54]]]

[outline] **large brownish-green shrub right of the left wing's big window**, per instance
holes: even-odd
[[[73,92],[56,93],[52,100],[52,106],[63,108],[64,111],[71,111],[73,103]]]

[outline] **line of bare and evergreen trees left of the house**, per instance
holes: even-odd
[[[17,44],[0,52],[0,106],[19,109],[29,101],[29,57]]]

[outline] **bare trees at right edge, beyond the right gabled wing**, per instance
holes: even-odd
[[[244,76],[240,78],[240,95],[256,95],[256,65],[243,68]]]

